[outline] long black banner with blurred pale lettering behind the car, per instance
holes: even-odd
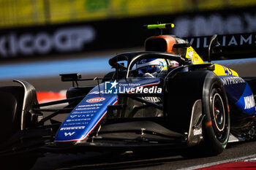
[[[164,34],[175,34],[181,37],[207,36],[208,39],[213,34],[256,32],[255,7],[182,15],[152,15],[84,23],[5,28],[0,30],[0,60],[143,47],[145,39],[155,34],[154,30],[143,30],[143,25],[157,22],[175,23],[176,27],[164,30]],[[200,42],[198,42],[197,38],[187,39],[195,47],[208,45],[208,40],[204,41],[204,38],[203,40],[199,38]],[[241,43],[255,45],[255,34],[246,34],[243,37],[234,36],[234,38],[222,36],[219,39],[225,46]]]

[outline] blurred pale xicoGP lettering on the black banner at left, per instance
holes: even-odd
[[[0,37],[0,55],[16,56],[46,54],[51,50],[59,52],[80,51],[83,45],[95,39],[94,28],[90,26],[59,28],[53,35],[47,32],[38,34],[21,34],[17,36],[10,33]]]

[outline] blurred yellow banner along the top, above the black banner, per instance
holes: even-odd
[[[1,0],[0,28],[174,15],[255,5],[254,0]]]

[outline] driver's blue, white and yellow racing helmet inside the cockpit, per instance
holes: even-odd
[[[138,70],[138,74],[159,73],[166,69],[167,62],[162,58],[143,59],[136,63],[136,70]]]

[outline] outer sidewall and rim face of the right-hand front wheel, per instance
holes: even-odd
[[[208,74],[203,87],[203,145],[206,155],[218,155],[225,150],[230,134],[230,114],[221,80]]]

